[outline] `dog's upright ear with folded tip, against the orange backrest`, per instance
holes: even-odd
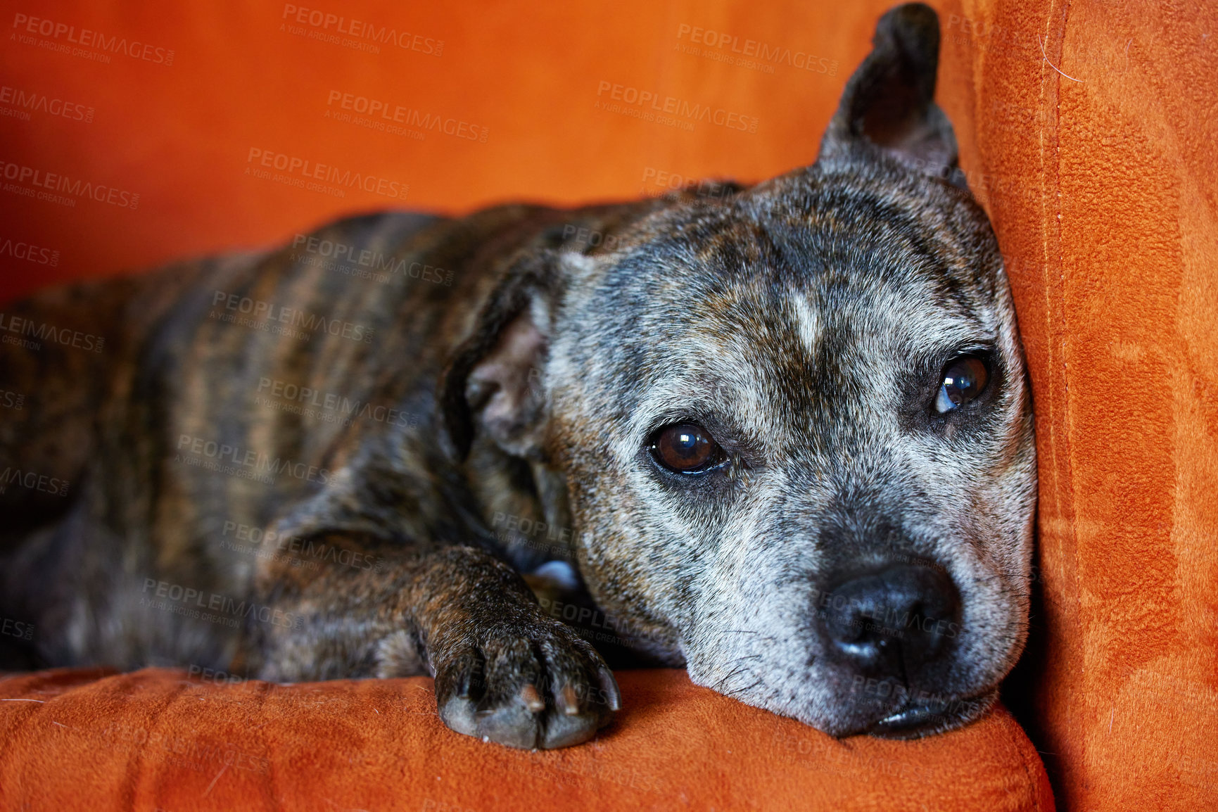
[[[820,157],[879,149],[929,174],[957,174],[956,135],[934,103],[938,15],[921,2],[896,6],[879,18],[871,43],[825,131]]]

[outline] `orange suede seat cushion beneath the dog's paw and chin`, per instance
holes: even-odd
[[[1001,709],[943,737],[837,741],[683,671],[626,671],[625,709],[597,739],[524,752],[445,728],[425,678],[185,677],[0,679],[0,807],[1052,810],[1032,743]]]

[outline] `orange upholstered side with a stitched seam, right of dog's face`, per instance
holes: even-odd
[[[945,11],[1037,411],[1024,719],[1065,808],[1218,808],[1218,9]]]

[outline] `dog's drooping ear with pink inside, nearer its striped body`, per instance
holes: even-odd
[[[486,432],[509,454],[537,459],[546,427],[543,369],[560,261],[548,251],[516,261],[440,381],[440,407],[458,459]]]

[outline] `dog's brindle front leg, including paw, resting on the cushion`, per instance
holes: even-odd
[[[346,559],[368,569],[311,573],[267,561],[259,592],[285,622],[256,623],[250,654],[259,676],[430,670],[445,724],[524,749],[585,741],[618,710],[616,682],[596,650],[546,616],[524,579],[493,556],[468,547],[410,554],[334,536],[302,543],[351,551]]]

